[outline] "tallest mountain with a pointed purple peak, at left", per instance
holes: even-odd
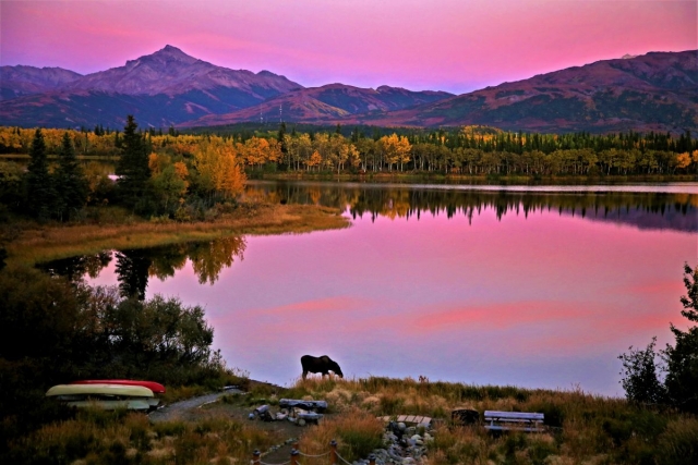
[[[302,86],[268,71],[229,70],[167,46],[124,66],[3,101],[0,124],[119,127],[127,114],[134,114],[141,126],[167,127],[298,88]]]

